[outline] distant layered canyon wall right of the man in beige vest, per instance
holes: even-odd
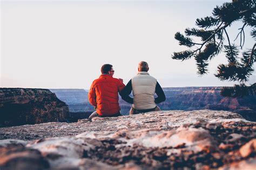
[[[166,101],[159,106],[164,110],[256,110],[256,96],[223,97],[220,90],[221,87],[164,88]]]

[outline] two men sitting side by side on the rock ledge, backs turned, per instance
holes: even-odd
[[[96,108],[89,120],[93,117],[117,117],[120,113],[118,93],[127,103],[132,104],[130,115],[151,111],[160,111],[156,105],[165,101],[165,94],[155,78],[150,76],[149,65],[139,62],[138,74],[125,86],[123,79],[113,78],[114,70],[110,64],[104,64],[102,74],[92,82],[88,94],[89,102]],[[132,92],[133,98],[129,96]],[[154,94],[157,98],[154,98]]]

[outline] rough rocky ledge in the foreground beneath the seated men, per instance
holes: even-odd
[[[255,169],[256,123],[159,111],[0,128],[0,169]]]

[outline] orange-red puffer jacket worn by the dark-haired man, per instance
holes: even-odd
[[[125,85],[119,79],[109,74],[102,74],[92,82],[88,94],[90,104],[97,107],[99,115],[116,114],[120,111],[118,92],[124,87]]]

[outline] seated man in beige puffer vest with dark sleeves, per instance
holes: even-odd
[[[156,105],[165,101],[165,94],[157,79],[150,76],[149,65],[146,62],[139,62],[138,74],[133,77],[120,93],[122,99],[132,104],[130,115],[151,111],[160,111]],[[132,92],[133,98],[129,96]],[[157,98],[154,98],[154,93]]]

